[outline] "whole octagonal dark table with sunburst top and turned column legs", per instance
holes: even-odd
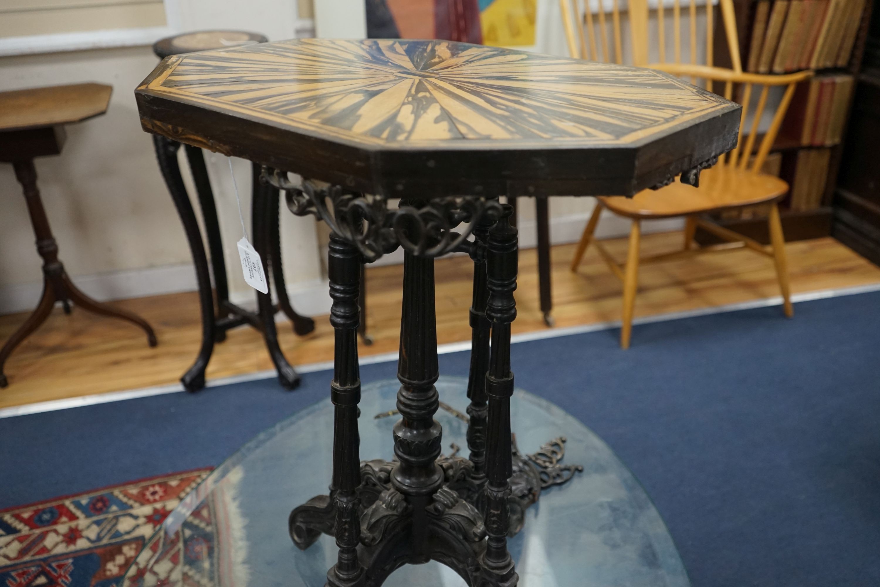
[[[334,587],[380,585],[430,560],[472,587],[515,585],[512,513],[537,501],[539,488],[528,466],[515,466],[511,443],[517,231],[498,198],[633,195],[678,173],[693,184],[736,144],[740,106],[654,70],[429,40],[290,40],[177,55],[136,98],[144,129],[265,165],[264,180],[286,192],[295,214],[331,228],[333,473],[329,495],[290,514],[297,547],[335,536]],[[398,246],[396,459],[362,463],[359,265]],[[441,457],[434,419],[434,258],[450,252],[474,260],[467,459]]]

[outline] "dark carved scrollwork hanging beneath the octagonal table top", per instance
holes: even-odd
[[[339,186],[319,187],[311,180],[297,184],[286,172],[266,167],[262,180],[284,190],[291,212],[317,216],[335,234],[356,245],[368,262],[397,246],[426,257],[451,253],[466,245],[480,219],[501,214],[497,200],[483,197],[448,196],[389,209],[385,196],[358,194]]]

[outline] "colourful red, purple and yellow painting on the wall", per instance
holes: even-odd
[[[535,44],[537,0],[366,0],[370,39]]]

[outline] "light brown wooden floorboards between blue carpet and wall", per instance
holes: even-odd
[[[623,260],[626,239],[605,244]],[[674,251],[680,245],[680,233],[642,238],[643,253]],[[790,243],[786,248],[794,293],[880,283],[880,268],[832,238]],[[569,272],[573,253],[574,245],[555,246],[553,250],[556,327],[620,319],[620,282],[595,250],[587,252],[576,274]],[[546,329],[539,311],[536,262],[534,250],[521,253],[515,334]],[[470,340],[471,267],[465,256],[436,261],[437,338],[441,344]],[[370,347],[362,344],[362,356],[398,349],[401,278],[402,266],[367,270],[367,323],[376,342]],[[681,312],[777,295],[771,260],[747,250],[706,254],[642,267],[635,315]],[[201,330],[195,294],[141,297],[118,305],[150,321],[158,335],[157,348],[150,349],[143,333],[127,323],[95,317],[76,308],[65,316],[56,308],[47,323],[6,363],[10,385],[0,389],[0,407],[176,382],[199,348]],[[0,316],[0,341],[26,315]],[[333,330],[326,316],[316,322],[315,332],[302,338],[293,334],[290,323],[278,325],[282,349],[291,363],[333,359]],[[608,337],[608,344],[616,345],[616,333]],[[638,344],[636,326],[633,345]],[[260,335],[253,328],[239,327],[216,345],[208,376],[220,378],[271,368]]]

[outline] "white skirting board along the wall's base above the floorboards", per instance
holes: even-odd
[[[550,221],[550,240],[554,245],[576,242],[581,238],[583,226],[587,223],[586,214],[559,216]],[[662,232],[680,230],[680,219],[659,220],[643,223],[643,232]],[[629,233],[629,221],[620,216],[605,214],[596,231],[598,238],[615,238]],[[534,220],[524,220],[520,224],[519,245],[531,248],[538,242]],[[324,251],[326,254],[326,249]],[[393,265],[403,262],[403,253],[398,250],[386,255],[374,265]],[[235,264],[228,263],[227,270],[234,270]],[[191,264],[168,265],[164,267],[128,269],[97,275],[73,277],[89,296],[100,301],[128,299],[131,297],[159,296],[181,291],[194,291],[195,273]],[[0,285],[0,314],[28,312],[40,300],[42,282]],[[302,283],[289,283],[288,294],[297,312],[305,316],[319,316],[330,312],[330,296],[326,281],[312,280]],[[249,292],[233,293],[231,299],[236,304],[253,308],[255,298]],[[279,314],[279,316],[281,316]]]

